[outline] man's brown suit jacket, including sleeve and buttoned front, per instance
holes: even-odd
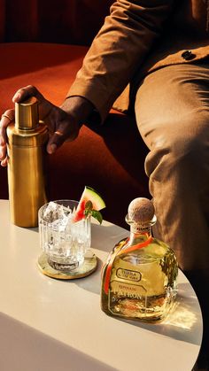
[[[102,121],[112,104],[128,110],[130,82],[135,87],[159,67],[209,56],[205,27],[202,0],[116,1],[67,97],[88,98]]]

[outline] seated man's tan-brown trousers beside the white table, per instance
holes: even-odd
[[[175,65],[146,76],[135,98],[150,149],[145,171],[158,223],[174,249],[209,325],[209,63]]]

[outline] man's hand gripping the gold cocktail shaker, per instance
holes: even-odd
[[[94,106],[84,97],[69,97],[58,107],[47,99],[32,85],[19,89],[12,98],[13,103],[19,103],[28,97],[36,97],[39,102],[39,119],[43,120],[50,131],[47,144],[48,153],[54,153],[66,140],[73,141],[79,134],[82,123],[93,112]],[[0,121],[0,160],[1,165],[7,165],[6,128],[15,121],[14,109],[6,110]]]

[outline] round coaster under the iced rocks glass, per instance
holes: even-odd
[[[38,258],[38,267],[41,272],[52,278],[58,278],[58,280],[74,280],[76,278],[86,277],[89,274],[95,272],[97,268],[97,256],[89,251],[81,267],[78,267],[72,271],[62,272],[53,267],[50,267],[46,254],[43,252]]]

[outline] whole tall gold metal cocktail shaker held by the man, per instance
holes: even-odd
[[[38,117],[38,101],[15,104],[15,124],[7,128],[8,183],[12,223],[37,227],[38,210],[47,202],[44,176],[48,128]]]

